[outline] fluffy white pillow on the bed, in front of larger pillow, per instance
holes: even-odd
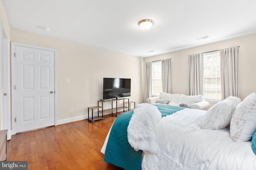
[[[198,126],[202,129],[222,129],[230,124],[231,116],[236,106],[241,102],[240,98],[230,96],[212,106]]]

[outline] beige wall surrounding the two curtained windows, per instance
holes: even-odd
[[[180,51],[174,51],[154,57],[144,58],[148,61],[157,61],[161,59],[172,58],[172,93],[188,94],[188,55],[195,53],[204,53],[227,47],[240,46],[239,52],[239,90],[240,98],[243,100],[248,94],[256,92],[256,34],[246,35],[234,39],[211,43]]]

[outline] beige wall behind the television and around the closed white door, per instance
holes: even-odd
[[[103,77],[131,78],[130,99],[142,102],[142,58],[18,29],[11,29],[11,41],[58,50],[58,120],[87,115],[102,99]]]

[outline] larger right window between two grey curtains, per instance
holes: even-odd
[[[220,51],[204,53],[204,98],[221,100]]]

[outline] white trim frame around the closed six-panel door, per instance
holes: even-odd
[[[28,44],[23,44],[23,43],[16,43],[16,42],[11,42],[11,67],[12,67],[12,135],[16,134],[16,125],[15,125],[15,117],[16,117],[16,110],[15,110],[15,90],[14,90],[14,85],[16,84],[15,82],[15,46],[22,46],[22,47],[30,47],[30,48],[35,48],[35,49],[42,49],[42,50],[48,50],[48,51],[53,51],[54,52],[54,83],[55,83],[55,93],[54,93],[54,107],[55,107],[55,116],[54,116],[54,125],[58,125],[58,50],[57,49],[50,49],[46,47],[39,47],[35,45],[28,45]]]

